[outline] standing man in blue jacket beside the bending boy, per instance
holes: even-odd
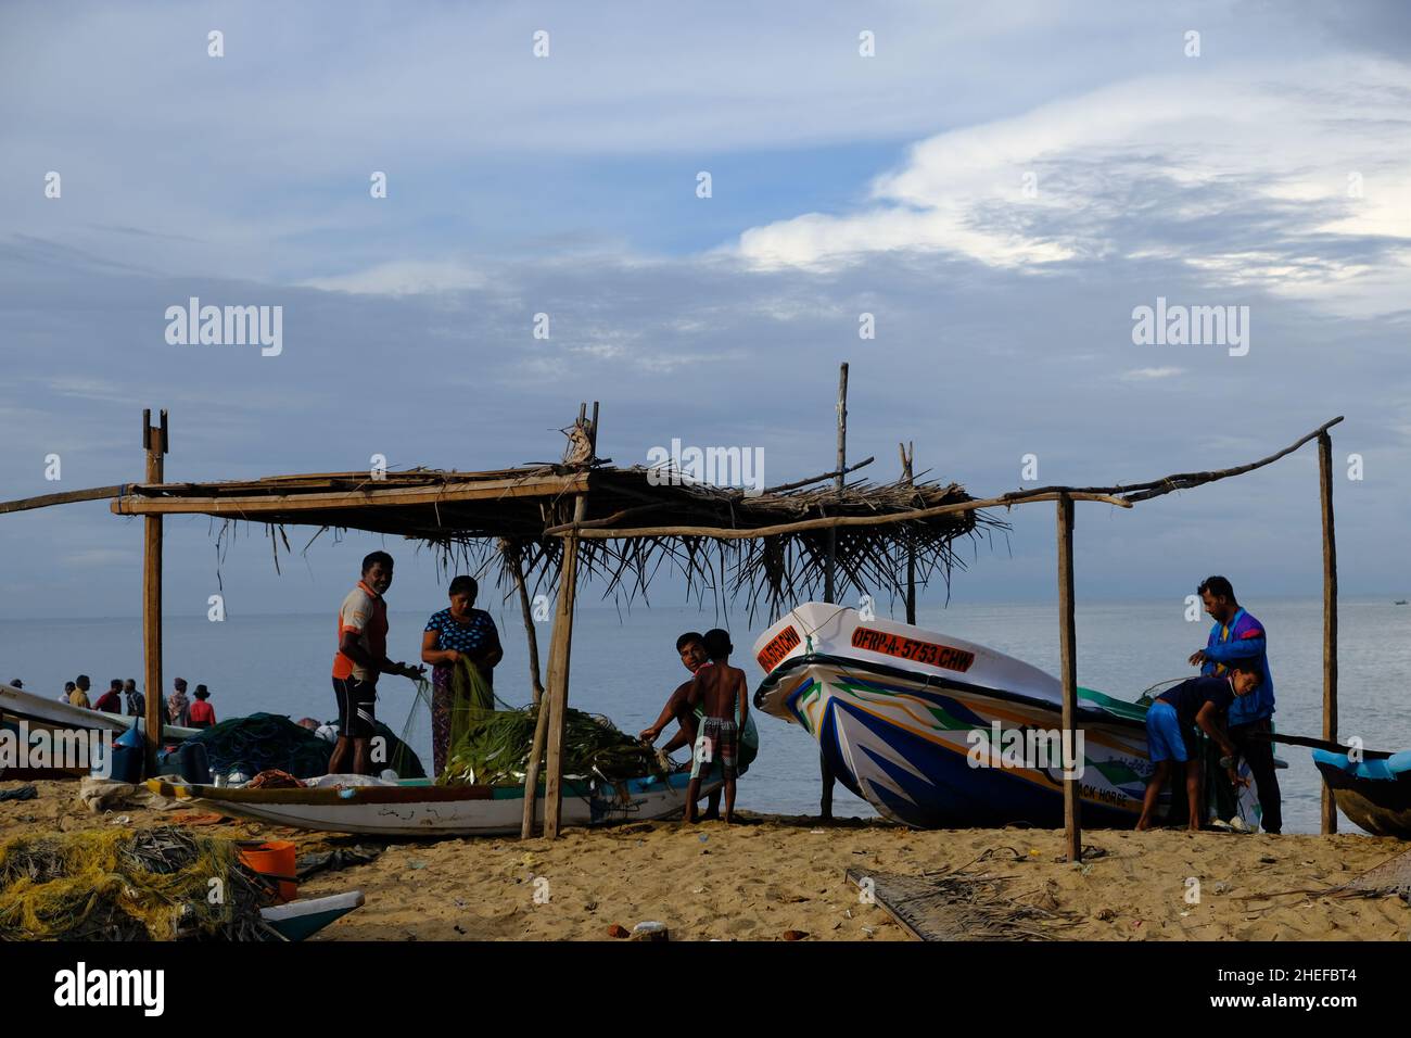
[[[1201,674],[1223,675],[1233,660],[1253,660],[1259,668],[1259,686],[1229,708],[1229,736],[1240,756],[1249,761],[1259,788],[1259,806],[1264,832],[1278,833],[1284,816],[1274,771],[1274,744],[1261,734],[1274,730],[1274,679],[1268,674],[1268,640],[1264,624],[1245,612],[1235,599],[1235,587],[1223,576],[1211,576],[1197,589],[1205,612],[1215,620],[1204,650],[1191,655]]]

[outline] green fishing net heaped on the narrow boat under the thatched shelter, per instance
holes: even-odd
[[[468,661],[456,667],[452,692],[450,750],[437,782],[523,785],[540,708],[505,706]],[[563,775],[607,782],[665,778],[650,747],[619,732],[607,717],[574,709],[566,712]]]

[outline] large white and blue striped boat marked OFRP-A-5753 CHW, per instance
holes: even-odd
[[[1144,705],[1079,688],[1081,753],[1075,740],[1067,758],[1007,757],[996,751],[1061,748],[1050,736],[1062,729],[1062,686],[985,645],[810,602],[759,637],[755,658],[755,706],[817,739],[834,775],[883,818],[1061,826],[1064,760],[1081,771],[1084,825],[1132,826],[1141,813],[1153,772]],[[1168,812],[1163,791],[1158,818]],[[1240,816],[1257,825],[1253,782]]]

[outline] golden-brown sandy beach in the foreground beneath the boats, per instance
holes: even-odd
[[[11,784],[6,784],[8,788]],[[1081,866],[1062,833],[1037,829],[917,832],[878,821],[745,816],[744,825],[645,822],[570,829],[563,839],[402,840],[332,836],[217,821],[190,808],[96,815],[78,784],[35,782],[0,804],[0,840],[113,825],[195,825],[231,839],[286,839],[299,853],[381,847],[377,859],[320,871],[316,897],[358,888],[367,905],[323,941],[611,941],[612,928],[666,924],[673,941],[909,941],[861,876],[962,877],[985,919],[971,936],[1085,941],[1405,941],[1411,907],[1395,897],[1319,897],[1407,850],[1364,835],[1237,836],[1096,830]],[[1199,881],[1191,904],[1189,880]],[[971,917],[961,917],[971,918]],[[1013,922],[1010,922],[1013,921]],[[789,936],[786,936],[786,933]],[[806,935],[801,936],[800,935]]]

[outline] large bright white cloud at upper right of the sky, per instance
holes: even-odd
[[[1338,89],[1304,88],[1322,82]],[[869,208],[752,227],[737,251],[762,268],[835,268],[893,250],[1030,267],[1118,247],[1184,258],[1221,280],[1384,312],[1403,306],[1404,295],[1393,298],[1366,264],[1346,257],[1343,243],[1367,236],[1411,243],[1408,99],[1411,71],[1371,59],[1118,83],[930,137],[873,181]],[[1349,193],[1349,172],[1362,175],[1360,196]],[[1026,175],[1033,196],[1024,193]],[[1149,230],[1126,198],[1147,202],[1143,185],[1161,179],[1174,186],[1164,208],[1150,210],[1158,226]],[[1222,244],[1219,230],[1277,203],[1294,233],[1307,236],[1305,256],[1291,263]],[[1201,233],[1163,240],[1161,229],[1173,225]],[[1391,264],[1404,284],[1411,249],[1391,253]]]

